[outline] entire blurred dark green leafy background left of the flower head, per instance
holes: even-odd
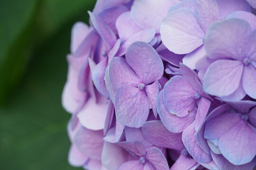
[[[96,0],[0,0],[0,169],[82,170],[68,164],[61,105],[71,28]]]

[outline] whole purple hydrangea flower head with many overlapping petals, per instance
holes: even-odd
[[[86,170],[253,170],[256,0],[98,0],[62,102]]]

